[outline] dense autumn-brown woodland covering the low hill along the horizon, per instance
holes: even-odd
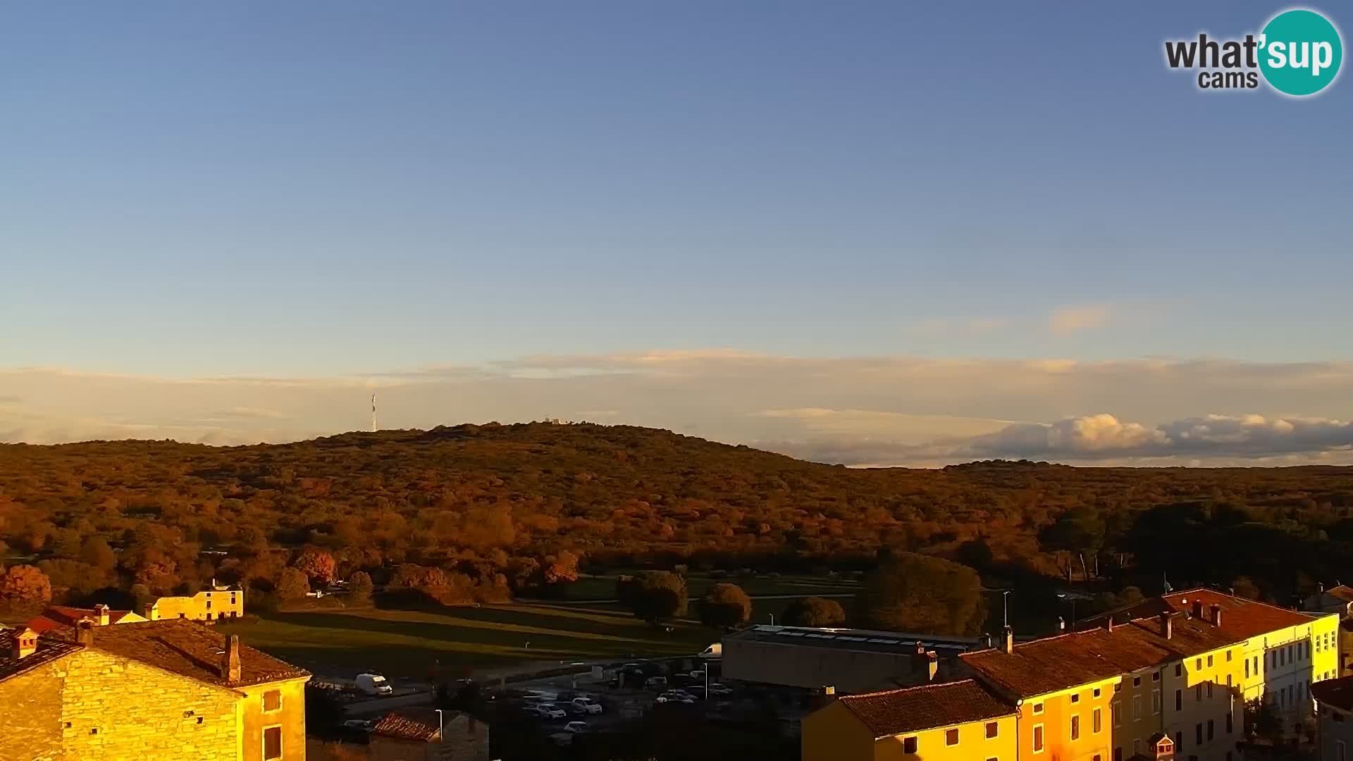
[[[579,569],[851,571],[902,551],[1109,592],[1154,593],[1165,575],[1176,588],[1253,580],[1253,594],[1289,603],[1318,581],[1353,581],[1353,469],[852,470],[548,422],[227,448],[8,444],[0,550],[72,603],[212,577],[256,600],[294,596],[359,570],[377,588],[501,600]],[[11,569],[0,599],[34,585]]]

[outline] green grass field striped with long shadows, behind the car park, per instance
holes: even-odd
[[[689,655],[718,639],[718,632],[693,623],[678,623],[667,634],[618,607],[578,604],[269,613],[221,624],[221,631],[238,634],[245,645],[318,674],[369,669],[391,678],[426,678],[434,666],[455,672],[541,661]]]

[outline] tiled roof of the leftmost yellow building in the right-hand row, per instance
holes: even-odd
[[[847,695],[839,699],[874,737],[915,733],[1017,712],[976,680]]]

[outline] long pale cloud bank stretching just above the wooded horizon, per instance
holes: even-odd
[[[1068,324],[1093,322],[1076,316]],[[1072,329],[1072,328],[1069,328]],[[1353,464],[1353,363],[529,356],[344,378],[0,370],[0,441],[292,441],[543,418],[670,428],[816,462]]]

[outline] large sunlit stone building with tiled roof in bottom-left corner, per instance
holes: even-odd
[[[187,620],[0,631],[0,758],[304,761],[308,678]]]

